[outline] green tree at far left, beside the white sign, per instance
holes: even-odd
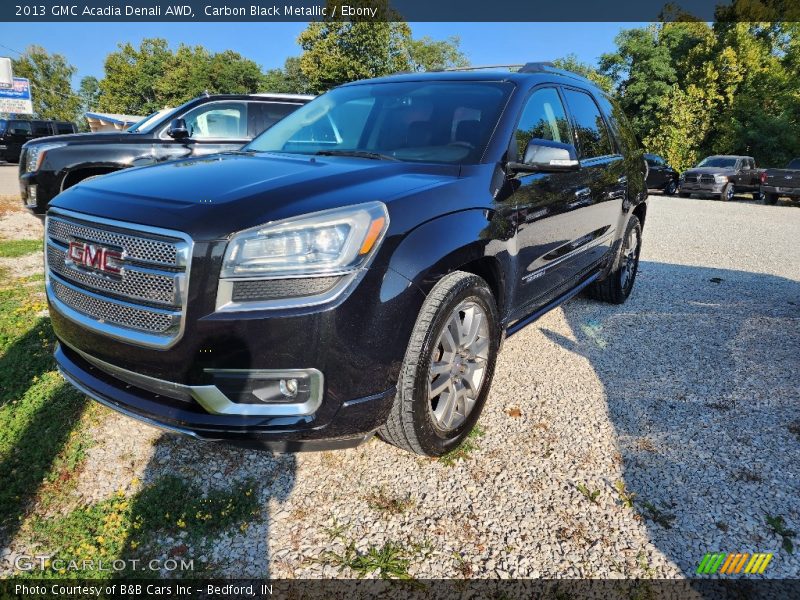
[[[12,61],[16,77],[31,81],[34,116],[39,119],[76,121],[80,98],[72,89],[76,69],[61,54],[50,54],[41,46],[29,46]]]

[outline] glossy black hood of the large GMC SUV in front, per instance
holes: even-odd
[[[228,153],[91,179],[50,206],[211,240],[328,208],[389,202],[458,174],[457,165]]]

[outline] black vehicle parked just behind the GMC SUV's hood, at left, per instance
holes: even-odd
[[[203,95],[159,111],[126,131],[81,133],[26,144],[22,202],[44,214],[56,195],[89,177],[157,162],[238,150],[313,96]]]

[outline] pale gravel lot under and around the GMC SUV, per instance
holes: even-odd
[[[578,298],[509,338],[452,465],[378,440],[242,451],[109,412],[72,501],[254,479],[261,517],[194,557],[227,576],[347,576],[330,552],[391,542],[420,578],[672,578],[712,551],[774,552],[767,577],[800,577],[765,522],[800,531],[798,238],[788,204],[653,197],[628,303]]]

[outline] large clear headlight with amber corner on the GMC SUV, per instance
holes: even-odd
[[[363,266],[389,225],[382,202],[287,219],[237,234],[228,243],[222,278],[346,273]]]

